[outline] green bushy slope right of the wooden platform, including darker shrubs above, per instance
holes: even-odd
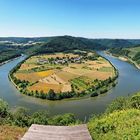
[[[94,140],[139,139],[140,93],[117,98],[104,114],[92,117],[88,127]]]

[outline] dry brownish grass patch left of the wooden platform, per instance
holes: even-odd
[[[0,125],[0,140],[19,140],[26,131],[27,128]]]

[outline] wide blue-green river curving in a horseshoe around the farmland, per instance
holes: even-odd
[[[46,110],[51,115],[74,113],[82,120],[90,117],[91,114],[102,113],[105,111],[107,105],[115,98],[140,91],[140,70],[127,62],[104,54],[103,52],[100,52],[100,54],[107,58],[119,70],[117,86],[104,95],[62,101],[48,101],[22,95],[8,79],[9,71],[24,59],[22,56],[0,66],[0,98],[7,101],[12,109],[21,106],[28,108],[31,112]]]

